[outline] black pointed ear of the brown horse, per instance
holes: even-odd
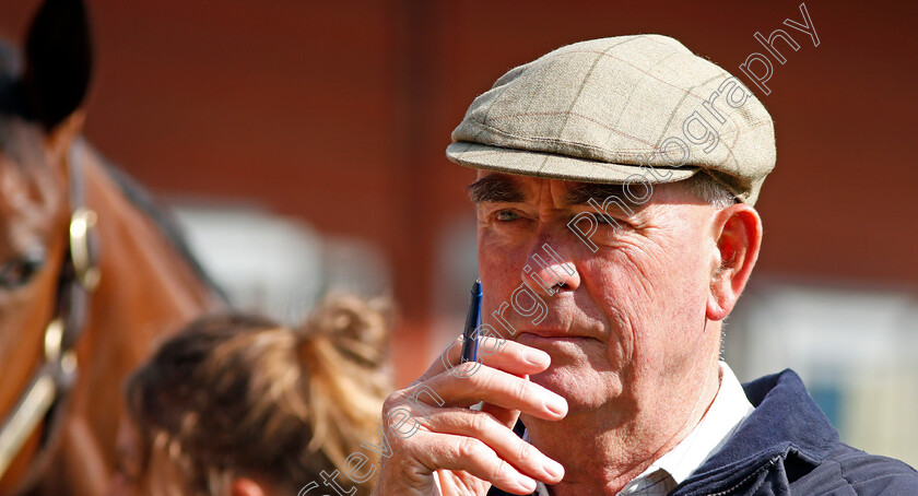
[[[28,29],[23,86],[32,116],[52,130],[82,104],[90,85],[92,47],[79,0],[46,0]]]

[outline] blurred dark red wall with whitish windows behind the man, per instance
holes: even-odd
[[[89,3],[90,140],[179,205],[240,297],[391,291],[400,385],[460,331],[475,275],[473,174],[444,158],[475,95],[561,45],[635,33],[740,74],[765,51],[753,34],[785,28],[800,49],[778,42],[772,93],[741,76],[778,165],[727,356],[743,380],[799,369],[846,438],[918,463],[918,3],[807,1],[817,47],[781,24],[801,21],[787,0]],[[22,39],[37,4],[0,2],[0,34]]]

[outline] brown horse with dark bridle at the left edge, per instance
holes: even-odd
[[[0,46],[0,495],[98,495],[121,382],[222,299],[153,202],[80,138],[91,73],[75,0]],[[158,217],[158,220],[157,220]]]

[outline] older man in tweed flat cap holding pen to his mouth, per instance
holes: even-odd
[[[376,494],[918,494],[792,371],[742,387],[718,359],[775,164],[739,80],[664,36],[578,43],[497,80],[452,138],[478,169],[486,336],[480,364],[451,346],[389,397]]]

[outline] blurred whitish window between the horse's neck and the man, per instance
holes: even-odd
[[[239,309],[296,326],[329,291],[388,294],[381,252],[352,238],[239,204],[174,203],[191,250]]]

